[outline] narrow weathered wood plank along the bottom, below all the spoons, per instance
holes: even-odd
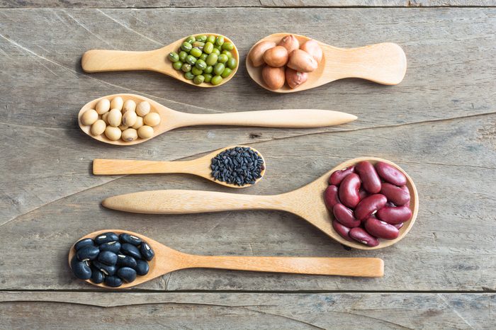
[[[124,298],[111,292],[0,292],[0,324],[9,329],[494,329],[495,300],[493,293],[128,293]]]

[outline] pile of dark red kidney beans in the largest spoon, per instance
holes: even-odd
[[[394,166],[368,161],[334,171],[324,199],[334,214],[332,227],[344,239],[377,246],[395,239],[412,217],[407,178]]]

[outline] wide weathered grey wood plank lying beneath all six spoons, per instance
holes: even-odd
[[[409,69],[405,81],[392,87],[348,80],[280,96],[257,87],[244,67],[230,84],[210,91],[153,73],[81,73],[84,50],[158,47],[181,38],[181,32],[164,31],[177,31],[195,11],[0,11],[0,224],[6,237],[0,243],[0,290],[88,290],[69,274],[67,249],[105,227],[142,232],[198,254],[379,256],[386,264],[385,278],[368,280],[188,270],[142,285],[144,290],[495,290],[496,191],[487,184],[496,179],[495,10],[205,9],[216,31],[225,17],[244,17],[231,27],[242,53],[264,35],[290,30],[293,21],[300,22],[295,32],[333,45],[398,42]],[[264,27],[247,30],[261,20]],[[82,104],[130,90],[191,112],[310,104],[360,120],[317,130],[185,128],[126,148],[98,144],[79,131],[75,118]],[[229,102],[222,101],[226,96]],[[414,178],[421,201],[417,224],[389,249],[360,252],[345,251],[282,212],[164,217],[99,206],[108,195],[137,190],[226,189],[189,176],[95,177],[91,159],[173,160],[249,142],[269,169],[257,186],[237,193],[282,193],[344,159],[373,155],[397,162]]]

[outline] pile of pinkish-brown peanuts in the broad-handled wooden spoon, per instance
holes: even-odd
[[[260,67],[261,76],[269,89],[280,89],[286,82],[291,89],[304,84],[308,72],[315,71],[322,61],[322,48],[315,40],[303,45],[294,35],[286,35],[276,42],[262,41],[253,47],[249,59],[254,67]]]

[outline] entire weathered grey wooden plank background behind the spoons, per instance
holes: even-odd
[[[0,0],[0,328],[495,329],[495,6]],[[81,71],[86,50],[151,50],[203,30],[228,35],[242,54],[235,78],[220,88],[152,72]],[[270,93],[251,81],[244,57],[254,42],[281,31],[339,47],[397,42],[407,54],[405,80],[346,79]],[[114,147],[77,126],[84,103],[111,93],[191,113],[312,107],[359,120],[308,130],[188,127]],[[257,186],[231,191],[193,176],[91,175],[94,158],[191,159],[230,144],[264,154],[268,169]],[[100,205],[107,196],[159,188],[282,193],[361,156],[395,161],[419,190],[412,231],[382,250],[349,251],[283,212],[133,215]],[[72,276],[67,252],[79,237],[106,228],[196,254],[377,256],[385,276],[191,269],[104,292]]]

